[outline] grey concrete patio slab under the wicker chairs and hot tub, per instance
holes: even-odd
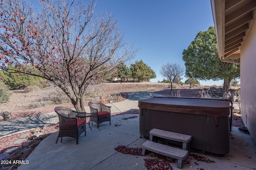
[[[44,139],[38,147],[28,156],[28,164],[22,164],[18,170],[27,169],[86,169],[86,170],[124,170],[143,169],[144,159],[151,158],[152,153],[146,156],[134,156],[123,154],[115,150],[119,145],[130,148],[141,148],[146,141],[140,138],[139,118],[131,118],[137,114],[116,115],[112,117],[112,123],[100,124],[97,129],[96,123],[92,126],[92,131],[87,126],[86,137],[82,134],[79,144],[70,137],[64,137],[63,142],[55,144],[58,133],[54,133]],[[129,119],[123,119],[129,118]],[[223,157],[214,157],[203,153],[192,152],[206,156],[212,163],[199,162],[192,156],[188,158],[189,164],[185,164],[182,169],[255,169],[256,145],[250,135],[239,131],[237,127],[232,127],[230,135],[230,152]],[[26,161],[25,161],[26,162]],[[177,162],[170,164],[177,170]]]

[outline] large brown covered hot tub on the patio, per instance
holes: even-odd
[[[157,128],[191,135],[192,149],[226,154],[229,152],[230,102],[176,97],[140,100],[140,134],[149,137],[149,131]]]

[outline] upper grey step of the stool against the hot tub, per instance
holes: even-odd
[[[149,135],[150,141],[153,141],[154,137],[160,137],[163,139],[182,142],[182,149],[188,150],[188,152],[190,152],[190,142],[192,140],[192,136],[190,135],[184,135],[181,133],[174,133],[155,128],[149,132]]]

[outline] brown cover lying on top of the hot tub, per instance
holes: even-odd
[[[138,101],[138,107],[160,111],[227,117],[229,100],[205,98],[154,97]]]

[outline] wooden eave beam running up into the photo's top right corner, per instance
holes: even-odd
[[[231,21],[236,20],[237,18],[239,18],[240,16],[246,14],[247,12],[250,12],[254,8],[256,8],[256,1],[252,1],[252,2],[250,2],[248,4],[246,4],[245,6],[241,7],[238,10],[236,10],[232,14],[229,14],[228,16],[226,16],[225,17],[225,25],[230,23]]]

